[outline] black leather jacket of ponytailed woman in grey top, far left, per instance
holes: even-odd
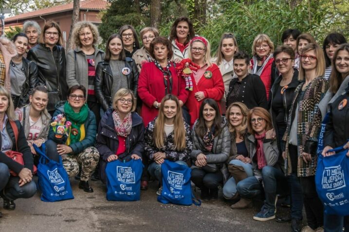
[[[12,61],[10,62],[10,64],[11,63]],[[22,85],[22,92],[18,98],[18,101],[15,103],[15,109],[28,104],[29,94],[33,91],[33,89],[37,85],[44,84],[39,82],[37,65],[34,62],[25,59],[24,57],[22,58],[22,71],[25,75],[25,81]]]

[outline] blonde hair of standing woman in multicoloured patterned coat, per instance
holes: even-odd
[[[315,56],[316,56],[316,77],[322,77],[325,74],[325,69],[326,69],[326,62],[325,62],[325,56],[324,56],[324,51],[320,48],[319,45],[317,44],[307,44],[303,49],[302,49],[302,54],[314,50],[315,51]],[[299,81],[304,81],[305,80],[305,71],[302,66],[302,61],[300,62],[299,66],[299,74],[298,74],[298,80]]]

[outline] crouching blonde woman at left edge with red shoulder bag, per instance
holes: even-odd
[[[4,209],[15,210],[14,200],[33,197],[37,186],[33,181],[33,156],[24,130],[16,120],[11,94],[2,86],[0,86],[0,131],[0,196],[3,199]],[[11,151],[23,154],[23,165],[6,155]],[[10,171],[16,176],[10,175]]]

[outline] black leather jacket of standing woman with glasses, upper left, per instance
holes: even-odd
[[[49,92],[48,111],[55,110],[59,100],[66,100],[68,85],[65,78],[65,50],[60,45],[55,45],[53,50],[38,44],[29,50],[27,59],[35,62],[38,68],[39,82],[45,83]]]

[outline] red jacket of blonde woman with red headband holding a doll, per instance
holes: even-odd
[[[220,68],[217,65],[212,64],[211,67],[207,68],[206,72],[207,71],[212,73],[211,78],[205,78],[204,74],[198,84],[195,83],[193,74],[191,77],[193,81],[193,91],[189,91],[188,100],[185,104],[190,114],[190,126],[193,126],[195,120],[199,117],[199,109],[202,102],[195,98],[194,94],[196,92],[203,91],[205,99],[211,98],[216,100],[220,107],[220,99],[222,99],[224,93],[224,83],[222,75],[220,74]]]

